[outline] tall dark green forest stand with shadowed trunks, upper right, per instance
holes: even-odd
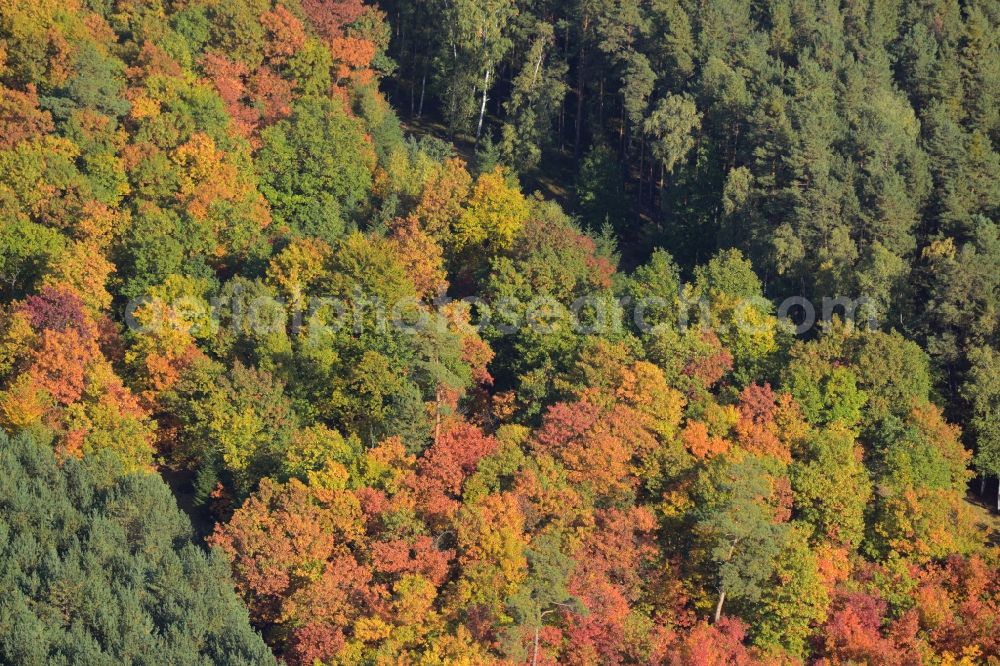
[[[410,117],[530,179],[574,174],[574,210],[630,263],[737,247],[769,297],[868,297],[1000,476],[996,2],[381,5]]]

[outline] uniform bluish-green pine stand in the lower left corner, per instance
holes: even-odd
[[[3,661],[274,663],[158,476],[3,433],[0,467]]]

